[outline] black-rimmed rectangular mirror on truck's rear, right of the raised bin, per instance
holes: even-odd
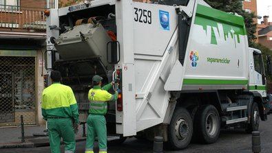
[[[120,43],[118,41],[109,41],[107,43],[107,62],[117,64],[120,61]]]

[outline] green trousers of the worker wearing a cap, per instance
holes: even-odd
[[[87,118],[87,141],[85,153],[92,153],[94,139],[98,137],[99,152],[107,152],[107,127],[104,115],[89,115]]]

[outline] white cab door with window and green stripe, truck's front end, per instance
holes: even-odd
[[[262,95],[262,97],[266,97],[266,77],[264,72],[264,62],[262,60],[262,54],[258,53],[257,51],[253,51],[253,61],[254,84],[249,86],[249,90],[257,91]]]

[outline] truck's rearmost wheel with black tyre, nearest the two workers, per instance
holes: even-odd
[[[185,108],[177,108],[168,126],[167,145],[171,150],[187,148],[193,134],[193,121]]]

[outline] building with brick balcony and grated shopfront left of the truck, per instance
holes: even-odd
[[[43,123],[45,0],[0,0],[0,126]]]

